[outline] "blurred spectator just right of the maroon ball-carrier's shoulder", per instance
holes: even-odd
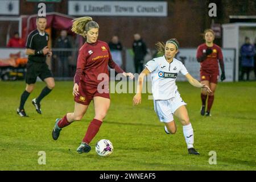
[[[119,67],[122,67],[122,44],[118,40],[118,36],[114,35],[112,37],[111,42],[109,42],[110,52],[112,54],[112,58],[117,63]]]

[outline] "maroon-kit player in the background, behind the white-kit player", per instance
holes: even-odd
[[[214,32],[211,29],[207,29],[204,31],[204,39],[205,43],[201,44],[197,48],[196,58],[200,63],[200,81],[201,84],[209,86],[212,93],[207,95],[205,90],[201,90],[201,115],[210,116],[210,109],[212,108],[213,100],[214,100],[214,91],[216,90],[217,82],[218,82],[218,62],[220,63],[221,68],[221,81],[225,80],[225,71],[224,71],[224,62],[221,48],[213,43],[214,40]],[[205,114],[205,104],[207,101],[207,112]]]

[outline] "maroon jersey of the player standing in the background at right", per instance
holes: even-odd
[[[218,73],[218,60],[223,61],[223,55],[221,48],[218,47],[216,44],[213,44],[213,47],[208,47],[205,43],[201,44],[197,48],[196,58],[199,59],[201,56],[203,56],[203,53],[206,52],[207,48],[212,49],[212,53],[200,63],[200,70]]]

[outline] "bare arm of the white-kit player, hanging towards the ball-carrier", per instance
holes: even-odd
[[[142,93],[142,87],[143,87],[143,80],[144,77],[148,75],[150,71],[145,68],[141,74],[139,74],[138,82],[137,82],[137,92],[135,96],[133,97],[133,105],[141,104],[141,93]]]

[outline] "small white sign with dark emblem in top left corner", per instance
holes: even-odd
[[[19,15],[19,0],[1,0],[0,15]]]

